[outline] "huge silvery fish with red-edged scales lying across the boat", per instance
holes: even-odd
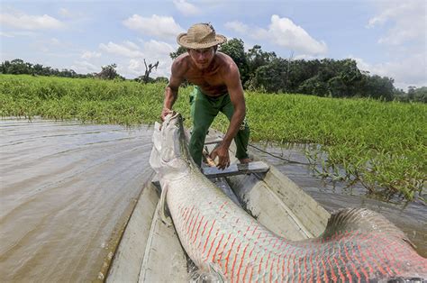
[[[322,235],[289,241],[268,231],[205,178],[190,158],[180,114],[155,126],[158,173],[179,239],[202,270],[230,282],[423,281],[427,260],[404,233],[367,209],[332,215]]]

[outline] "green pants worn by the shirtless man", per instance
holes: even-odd
[[[193,120],[193,130],[189,143],[190,154],[197,165],[202,163],[202,151],[206,133],[213,122],[213,118],[221,111],[229,121],[232,120],[234,107],[230,100],[230,95],[226,94],[219,97],[205,96],[199,87],[190,95],[191,118]],[[250,128],[246,119],[241,124],[241,129],[234,137],[237,151],[236,158],[248,158],[248,142],[250,137]]]

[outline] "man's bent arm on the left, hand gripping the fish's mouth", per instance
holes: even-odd
[[[183,78],[181,77],[182,65],[182,59],[180,58],[177,58],[172,63],[169,83],[165,88],[165,100],[163,101],[163,109],[161,110],[160,115],[161,121],[165,121],[165,117],[172,112],[172,106],[175,104],[175,101],[177,101],[178,89],[183,81]]]

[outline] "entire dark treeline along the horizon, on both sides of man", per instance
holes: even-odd
[[[245,51],[244,42],[240,39],[227,41],[220,46],[219,51],[228,54],[236,62],[245,90],[266,94],[297,93],[323,97],[369,97],[383,101],[427,102],[427,87],[408,87],[405,92],[394,86],[393,78],[371,75],[368,71],[360,70],[354,59],[283,59],[275,52],[262,50],[259,45]],[[179,47],[176,52],[170,53],[170,58],[175,59],[184,52],[186,49]],[[145,63],[145,74],[132,80],[141,83],[168,81],[168,78],[150,78],[151,70],[157,68],[157,65],[147,66]],[[2,62],[0,73],[125,80],[115,68],[113,63],[101,67],[99,73],[77,74],[73,69],[59,70],[14,59]]]

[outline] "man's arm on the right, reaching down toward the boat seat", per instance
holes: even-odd
[[[232,114],[232,120],[228,127],[227,132],[223,138],[223,142],[211,153],[211,158],[218,156],[219,162],[217,167],[219,169],[225,169],[230,165],[230,154],[228,152],[232,139],[236,136],[237,132],[241,127],[246,114],[245,98],[243,95],[243,87],[241,87],[241,78],[239,68],[236,64],[232,63],[227,75],[224,76],[224,81],[232,100],[234,107],[234,113]]]

